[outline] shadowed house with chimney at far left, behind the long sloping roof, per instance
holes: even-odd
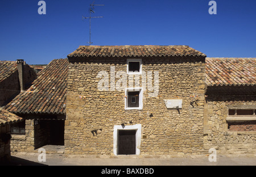
[[[35,79],[34,69],[23,60],[0,61],[0,107],[30,87]]]

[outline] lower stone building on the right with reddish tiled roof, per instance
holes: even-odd
[[[205,149],[256,154],[256,58],[207,58]]]

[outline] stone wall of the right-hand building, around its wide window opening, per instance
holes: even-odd
[[[228,106],[256,105],[255,95],[208,95],[205,105],[204,148],[219,154],[255,154],[256,132],[228,129]]]

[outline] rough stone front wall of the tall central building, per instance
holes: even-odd
[[[99,91],[96,76],[105,70],[110,79],[110,66],[115,74],[126,72],[126,58],[69,61],[65,154],[113,155],[114,125],[122,123],[141,124],[141,155],[204,151],[204,58],[143,58],[142,64],[152,75],[159,72],[159,94],[150,97],[144,90],[143,109],[125,110],[125,91]],[[196,102],[191,95],[197,95]],[[167,109],[164,99],[182,99],[182,109]]]

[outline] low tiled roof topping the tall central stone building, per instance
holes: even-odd
[[[80,46],[68,55],[73,57],[170,57],[197,56],[206,57],[187,45],[121,45],[121,46]]]

